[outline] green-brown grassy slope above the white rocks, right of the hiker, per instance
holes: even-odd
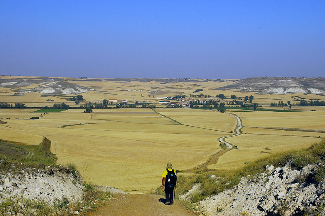
[[[218,194],[225,189],[232,188],[240,182],[242,177],[255,175],[265,171],[267,165],[282,167],[290,162],[291,168],[301,170],[307,164],[324,163],[325,162],[325,139],[312,145],[307,149],[290,150],[278,154],[274,154],[254,162],[246,163],[247,165],[235,171],[211,171],[200,174],[196,177],[179,176],[178,179],[178,196],[179,193],[186,193],[194,183],[201,183],[201,192],[198,192],[191,198],[191,202],[196,203],[202,199]],[[211,176],[217,176],[218,181]],[[305,176],[310,178],[309,181],[319,182],[325,178],[325,166],[321,164],[315,170],[313,176]],[[301,179],[305,181],[306,178]],[[281,205],[281,209],[284,205]],[[285,210],[285,209],[284,209]]]

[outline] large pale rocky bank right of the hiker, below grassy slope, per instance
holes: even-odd
[[[316,166],[267,166],[266,172],[242,178],[233,189],[206,198],[198,207],[207,215],[325,215],[325,179],[313,181]]]

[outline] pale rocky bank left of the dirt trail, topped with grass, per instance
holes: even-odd
[[[0,201],[6,198],[31,198],[53,204],[63,197],[76,202],[84,186],[78,172],[64,166],[11,164],[0,173]]]

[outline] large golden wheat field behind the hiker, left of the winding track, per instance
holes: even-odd
[[[202,123],[198,126],[176,123],[152,109],[77,111],[43,114],[38,120],[6,120],[7,124],[0,124],[1,130],[7,132],[2,139],[10,139],[6,134],[12,132],[20,133],[22,139],[24,134],[45,136],[52,141],[51,150],[58,163],[75,163],[86,181],[123,190],[148,190],[157,186],[168,161],[181,170],[208,160],[220,150],[218,138],[229,135],[221,129],[231,130],[225,125],[230,120],[235,123],[235,118],[228,119],[226,114],[190,109],[166,111],[191,118],[199,115],[210,115],[215,120],[222,115],[227,118],[220,118],[220,124],[212,130],[203,128]],[[30,114],[40,115],[23,109],[20,117],[27,118]],[[8,113],[0,113],[0,117],[5,116]]]

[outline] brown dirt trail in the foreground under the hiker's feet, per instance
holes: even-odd
[[[174,205],[165,205],[165,198],[155,194],[114,195],[114,200],[108,205],[100,207],[87,216],[194,216],[191,211],[180,206],[178,200]]]

